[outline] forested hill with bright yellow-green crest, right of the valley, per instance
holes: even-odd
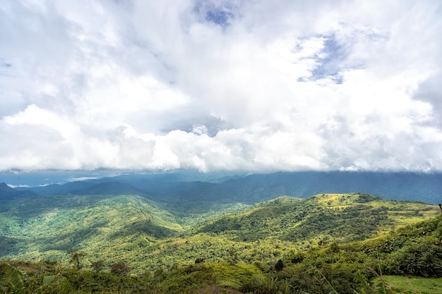
[[[232,240],[265,238],[347,242],[427,219],[438,207],[422,202],[396,202],[362,194],[321,194],[306,200],[279,197],[246,212],[206,223],[198,232]]]

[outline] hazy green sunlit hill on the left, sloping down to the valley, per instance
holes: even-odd
[[[3,257],[54,257],[72,249],[112,251],[137,238],[149,242],[180,231],[172,214],[131,195],[55,195],[0,206]]]

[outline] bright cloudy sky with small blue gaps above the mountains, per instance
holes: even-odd
[[[1,0],[0,171],[442,171],[442,1]]]

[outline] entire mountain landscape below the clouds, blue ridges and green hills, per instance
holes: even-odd
[[[441,183],[348,172],[1,183],[0,287],[17,267],[22,288],[58,289],[28,293],[385,293],[371,269],[442,276]]]

